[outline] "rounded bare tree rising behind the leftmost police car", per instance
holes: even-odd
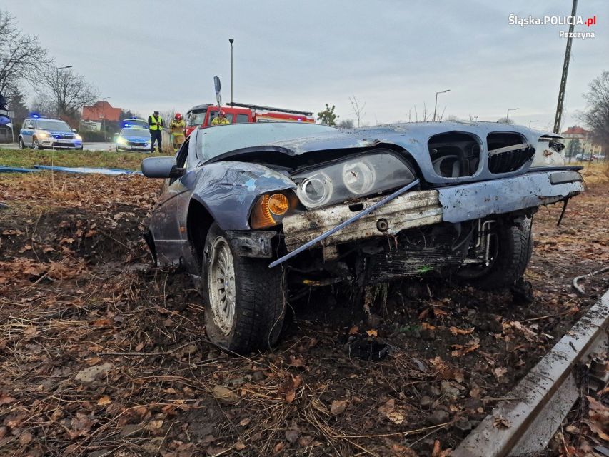
[[[40,94],[54,100],[57,116],[76,119],[81,106],[94,104],[99,97],[97,89],[85,81],[84,76],[72,69],[57,69],[46,66],[41,74]]]

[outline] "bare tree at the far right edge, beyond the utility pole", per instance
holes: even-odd
[[[586,109],[578,113],[592,131],[592,138],[603,146],[609,147],[609,71],[603,71],[589,84],[590,91],[583,94]]]

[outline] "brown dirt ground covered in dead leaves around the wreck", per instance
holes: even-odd
[[[560,227],[558,206],[535,215],[532,304],[404,281],[370,326],[312,291],[276,349],[229,356],[206,341],[188,278],[152,266],[141,233],[158,184],[0,176],[3,456],[446,456],[609,287],[571,288],[609,263],[601,180]]]

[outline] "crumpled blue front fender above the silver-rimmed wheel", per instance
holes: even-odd
[[[209,211],[223,230],[249,230],[251,207],[258,196],[296,189],[286,175],[259,164],[222,161],[204,165],[192,198]]]

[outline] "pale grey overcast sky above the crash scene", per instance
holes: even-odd
[[[215,100],[321,111],[348,97],[366,103],[368,124],[433,112],[553,125],[568,26],[509,25],[508,16],[568,16],[571,0],[531,1],[161,1],[0,0],[56,59],[109,96],[148,115],[186,112]],[[609,1],[580,0],[563,126],[575,124],[588,83],[609,70]],[[445,111],[446,108],[446,111]],[[421,118],[420,118],[421,119]]]

